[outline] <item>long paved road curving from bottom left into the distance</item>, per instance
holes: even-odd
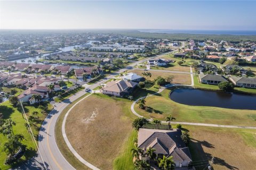
[[[165,53],[167,54],[167,53]],[[165,55],[162,54],[162,55]],[[108,75],[108,77],[104,78],[103,80],[92,84],[89,86],[90,89],[94,89],[100,84],[106,82],[109,79],[115,78],[115,76],[121,72],[125,72],[127,70],[132,70],[133,66],[150,60],[152,58],[160,57],[162,55],[157,55],[154,57],[146,58],[145,60],[137,61],[131,63],[129,66],[121,69],[113,74]],[[76,100],[77,98],[86,94],[85,91],[79,91],[77,94],[69,97],[66,100],[63,100],[61,103],[56,103],[54,109],[49,113],[49,115],[45,118],[41,130],[39,131],[39,138],[38,138],[38,150],[37,155],[31,158],[28,162],[24,163],[18,168],[15,169],[67,169],[72,170],[75,169],[71,166],[65,157],[61,154],[57,143],[55,141],[55,124],[58,120],[59,114],[65,109],[71,102]],[[38,154],[41,154],[39,156]]]

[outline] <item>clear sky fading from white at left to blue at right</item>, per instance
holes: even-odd
[[[256,1],[2,1],[0,29],[256,30]]]

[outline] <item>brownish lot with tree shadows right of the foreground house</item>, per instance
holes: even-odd
[[[189,130],[189,150],[196,169],[214,156],[213,168],[253,169],[256,166],[256,130],[182,125]]]

